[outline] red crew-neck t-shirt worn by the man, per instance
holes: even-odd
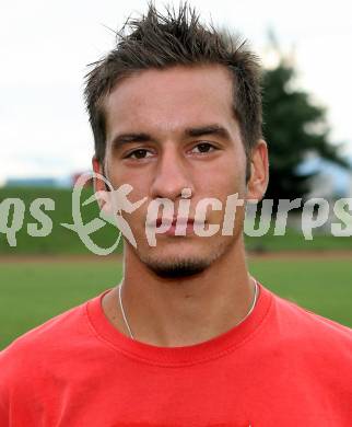
[[[352,330],[260,285],[238,326],[156,347],[119,333],[101,300],[0,354],[1,427],[352,426]]]

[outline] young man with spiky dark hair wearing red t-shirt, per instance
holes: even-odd
[[[187,7],[129,26],[85,94],[94,171],[146,197],[124,214],[137,245],[121,286],[1,354],[0,425],[351,426],[351,330],[247,269],[245,205],[268,184],[256,57]],[[155,200],[175,210],[153,220]]]

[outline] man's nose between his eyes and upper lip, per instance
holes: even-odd
[[[165,145],[166,146],[166,145]],[[151,185],[152,198],[168,198],[173,201],[181,197],[181,191],[190,188],[193,194],[191,174],[187,160],[172,143],[161,153]]]

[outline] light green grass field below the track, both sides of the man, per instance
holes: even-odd
[[[321,315],[352,327],[349,259],[253,259],[263,286]],[[115,286],[121,266],[102,262],[2,263],[0,348],[16,336]]]

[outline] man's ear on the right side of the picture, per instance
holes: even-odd
[[[246,199],[261,200],[269,183],[269,159],[267,142],[260,139],[251,150],[250,178],[247,183]]]

